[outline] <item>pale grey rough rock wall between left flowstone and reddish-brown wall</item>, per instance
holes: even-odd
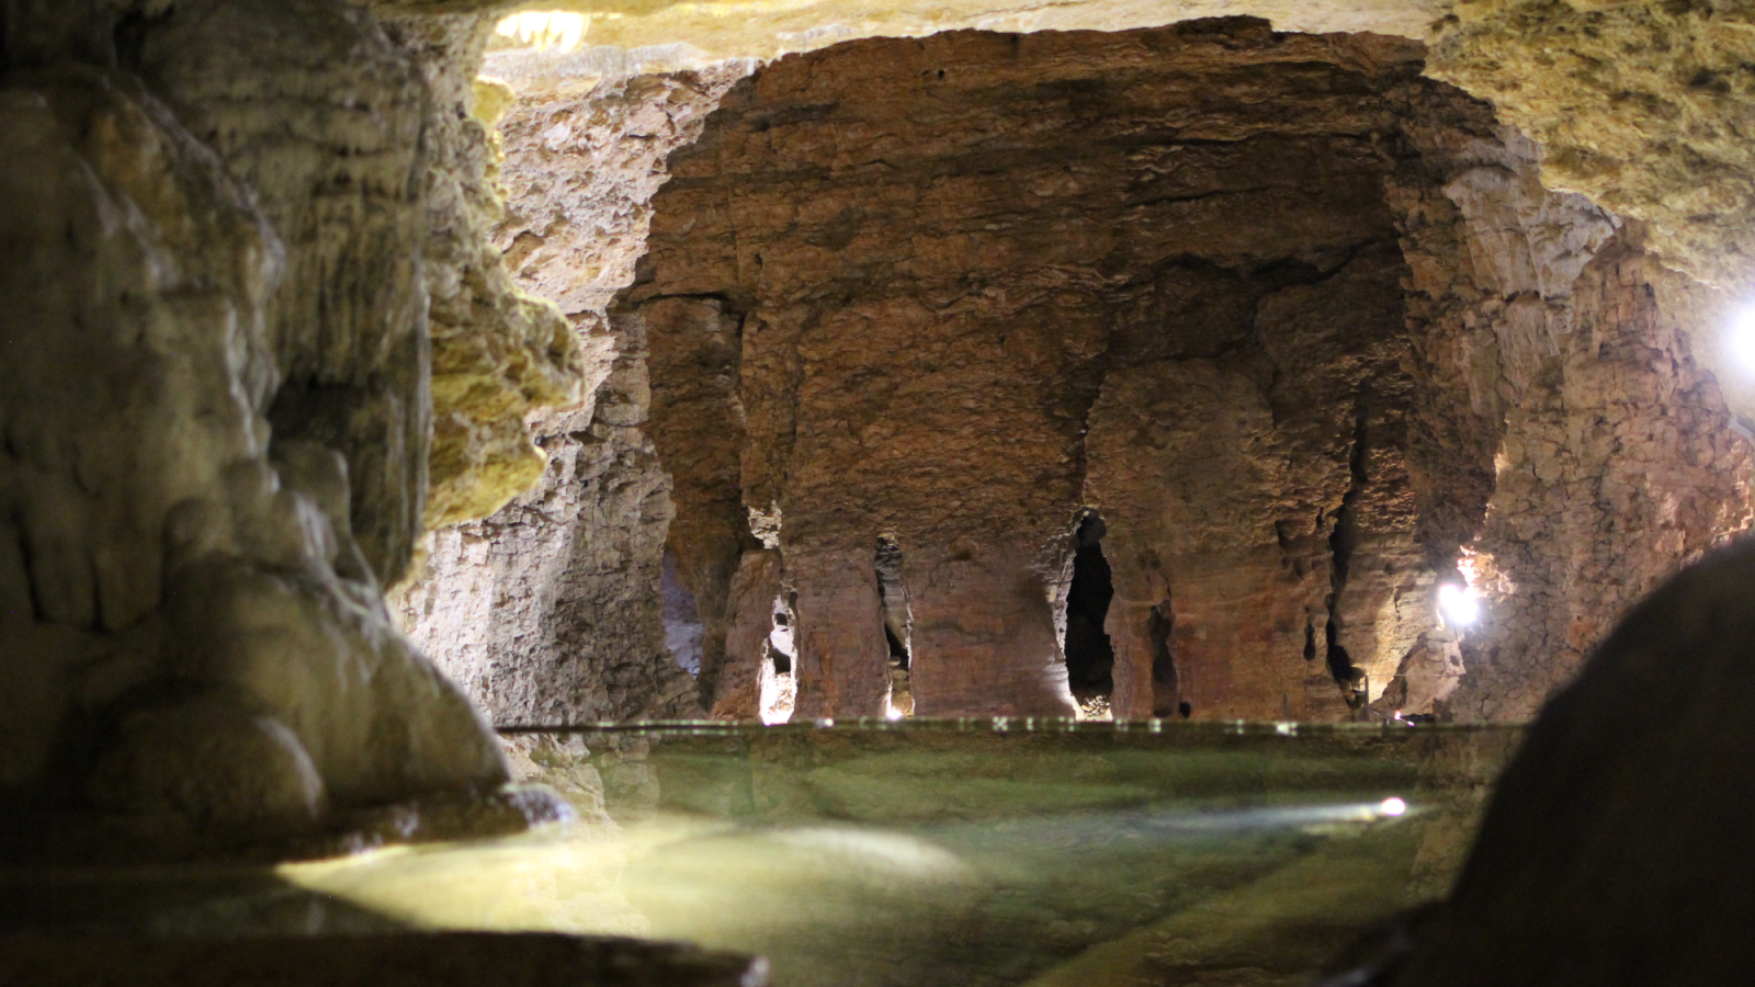
[[[534,418],[542,481],[430,536],[425,574],[397,599],[409,634],[497,722],[698,715],[695,683],[663,645],[670,479],[641,430],[644,339],[611,332],[602,313],[634,277],[665,155],[746,72],[509,79],[497,242],[519,286],[572,320],[590,399]]]

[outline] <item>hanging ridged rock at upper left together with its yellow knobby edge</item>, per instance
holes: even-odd
[[[581,379],[565,321],[512,288],[488,242],[493,149],[465,107],[490,21],[328,7],[183,2],[142,33],[139,63],[295,248],[270,418],[347,455],[355,525],[388,585],[423,523],[491,513],[535,479],[521,418]],[[314,37],[274,40],[300,33]]]

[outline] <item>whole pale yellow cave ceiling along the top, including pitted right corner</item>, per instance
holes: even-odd
[[[641,53],[653,68],[772,60],[862,37],[1114,32],[1214,16],[1265,18],[1281,32],[1420,39],[1430,47],[1429,76],[1490,100],[1546,149],[1548,188],[1648,221],[1655,253],[1694,279],[1739,292],[1755,285],[1748,223],[1755,5],[1743,0],[379,0],[377,7],[577,12],[588,18],[583,46]]]

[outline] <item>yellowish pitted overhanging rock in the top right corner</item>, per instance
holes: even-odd
[[[1434,77],[1541,142],[1543,179],[1646,220],[1665,263],[1755,285],[1755,12],[1746,4],[1460,0]]]

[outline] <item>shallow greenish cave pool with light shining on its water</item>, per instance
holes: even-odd
[[[1302,983],[1444,892],[1515,729],[641,725],[511,738],[577,810],[279,868],[0,878],[0,927],[544,929],[777,987]]]

